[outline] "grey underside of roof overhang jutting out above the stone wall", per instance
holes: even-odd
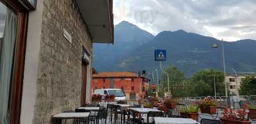
[[[76,0],[93,43],[114,43],[113,0]]]

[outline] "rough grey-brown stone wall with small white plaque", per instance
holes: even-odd
[[[63,28],[72,43],[63,37]],[[92,41],[76,2],[44,0],[33,123],[50,123],[53,114],[80,106],[82,46],[92,56]]]

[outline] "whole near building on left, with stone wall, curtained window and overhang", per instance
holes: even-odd
[[[0,123],[51,123],[90,102],[92,45],[113,43],[111,0],[0,0]]]

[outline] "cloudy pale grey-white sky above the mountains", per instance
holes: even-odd
[[[256,0],[114,0],[115,25],[122,20],[153,35],[183,29],[233,42],[256,40]]]

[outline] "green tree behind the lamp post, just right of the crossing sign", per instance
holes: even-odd
[[[182,89],[184,87],[183,82],[185,80],[184,72],[180,72],[175,66],[169,66],[164,70],[164,72],[169,74],[169,86],[173,97],[183,97],[180,96],[180,93],[182,93],[182,90],[184,90]],[[161,95],[163,95],[163,91],[168,91],[167,75],[164,73],[162,73],[161,76],[161,90]]]

